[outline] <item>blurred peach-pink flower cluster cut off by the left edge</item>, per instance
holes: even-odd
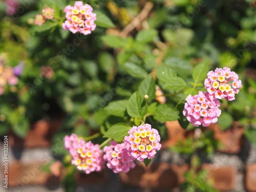
[[[18,83],[18,75],[15,74],[15,67],[5,66],[4,63],[3,60],[0,61],[0,95],[4,93],[5,86],[8,84],[10,86],[15,86]]]

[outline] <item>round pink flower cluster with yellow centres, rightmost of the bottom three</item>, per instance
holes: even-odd
[[[126,145],[127,153],[139,161],[155,156],[156,150],[160,150],[160,135],[150,124],[133,126],[125,136],[123,142]]]

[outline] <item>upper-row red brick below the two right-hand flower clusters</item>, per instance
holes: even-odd
[[[218,151],[230,154],[241,151],[241,145],[244,142],[244,129],[236,123],[226,131],[221,131],[218,124],[210,125],[209,129],[215,132],[215,139],[220,140],[223,145],[223,148],[218,149]]]

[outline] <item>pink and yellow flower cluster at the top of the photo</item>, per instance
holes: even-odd
[[[92,12],[93,8],[83,2],[75,2],[74,7],[69,5],[65,8],[67,20],[62,24],[63,29],[70,30],[72,33],[80,32],[84,35],[90,34],[95,30],[96,14]]]

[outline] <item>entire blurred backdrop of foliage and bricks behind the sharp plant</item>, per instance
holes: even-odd
[[[1,183],[1,191],[256,191],[256,1],[83,2],[112,22],[74,35],[61,27],[74,1],[0,1],[0,153],[4,160],[8,136],[10,160],[9,187]],[[46,7],[55,20],[35,26]],[[153,37],[139,41],[145,29]],[[184,130],[178,121],[162,122],[162,150],[151,166],[67,174],[65,135],[98,133],[96,112],[131,96],[159,63],[172,63],[189,81],[202,61],[211,70],[229,67],[243,83],[236,100],[223,101],[217,124]]]

